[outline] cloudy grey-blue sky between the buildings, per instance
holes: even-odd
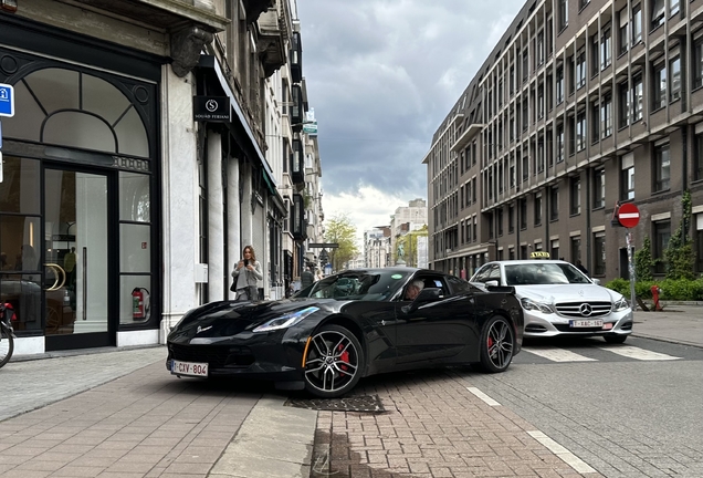
[[[325,218],[427,200],[432,135],[525,0],[297,0]]]

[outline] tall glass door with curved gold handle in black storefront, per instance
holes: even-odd
[[[45,169],[46,350],[109,345],[107,176]]]

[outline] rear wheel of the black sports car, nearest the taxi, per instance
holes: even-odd
[[[481,370],[487,373],[505,372],[513,361],[515,331],[501,315],[492,316],[481,331]]]

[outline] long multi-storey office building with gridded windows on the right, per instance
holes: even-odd
[[[628,232],[663,258],[690,195],[703,272],[703,0],[525,2],[423,163],[433,269],[547,251],[627,278]]]

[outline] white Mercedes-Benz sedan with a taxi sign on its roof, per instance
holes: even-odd
[[[487,289],[514,287],[524,310],[525,337],[602,336],[623,343],[632,333],[629,302],[566,261],[487,262],[469,281]]]

